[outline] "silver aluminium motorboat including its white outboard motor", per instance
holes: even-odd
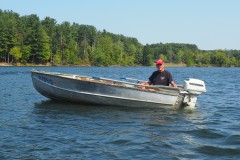
[[[154,85],[143,89],[139,83],[101,77],[37,70],[32,70],[31,76],[35,89],[47,98],[100,105],[194,107],[197,96],[206,92],[205,83],[198,79],[185,80],[178,88]]]

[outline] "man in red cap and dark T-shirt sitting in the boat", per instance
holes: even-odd
[[[149,77],[149,81],[145,82],[144,85],[153,84],[169,86],[170,84],[172,87],[177,87],[173,81],[171,73],[164,69],[164,61],[158,59],[154,63],[156,64],[157,71],[152,73],[152,75]]]

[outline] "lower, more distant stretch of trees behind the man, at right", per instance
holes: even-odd
[[[165,62],[187,66],[240,66],[240,50],[199,50],[194,44],[152,44],[143,47],[143,64],[152,64],[159,57]]]

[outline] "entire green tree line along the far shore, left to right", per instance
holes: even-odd
[[[136,38],[99,31],[94,26],[58,24],[35,14],[0,9],[0,62],[52,65],[152,65],[161,58],[187,66],[240,66],[239,50],[199,50],[194,44],[142,45]]]

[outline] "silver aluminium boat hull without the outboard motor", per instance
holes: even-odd
[[[179,108],[184,98],[179,89],[172,87],[156,93],[124,83],[83,79],[75,75],[32,71],[35,89],[50,99],[111,106]]]

